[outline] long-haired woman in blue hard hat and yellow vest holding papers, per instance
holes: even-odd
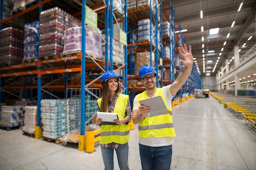
[[[114,169],[114,149],[120,170],[128,167],[128,139],[130,133],[131,107],[129,96],[120,94],[119,77],[115,72],[106,72],[101,78],[102,96],[97,100],[99,111],[117,113],[119,119],[113,120],[117,125],[103,125],[97,117],[96,123],[101,124],[99,143],[105,170]]]

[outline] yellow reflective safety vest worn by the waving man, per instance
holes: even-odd
[[[157,88],[155,96],[162,96],[164,104],[166,105],[164,90]],[[138,101],[147,99],[146,91],[138,94]],[[138,102],[138,108],[140,104]],[[166,105],[167,110],[148,113],[144,116],[143,120],[139,123],[139,137],[148,138],[151,135],[154,137],[174,137],[175,131],[173,128],[172,108]]]

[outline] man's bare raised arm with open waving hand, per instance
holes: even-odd
[[[186,82],[187,78],[189,77],[192,66],[193,66],[193,55],[191,53],[191,46],[189,45],[189,52],[186,48],[186,44],[184,44],[184,48],[182,44],[180,44],[180,47],[178,48],[180,55],[182,56],[182,59],[180,59],[180,62],[182,62],[185,67],[182,69],[182,72],[177,76],[177,79],[171,84],[170,86],[170,92],[174,96],[184,85]]]

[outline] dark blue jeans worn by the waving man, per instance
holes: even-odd
[[[139,144],[142,170],[170,170],[172,145],[151,147]]]

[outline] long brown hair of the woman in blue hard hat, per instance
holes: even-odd
[[[117,90],[116,93],[120,92],[120,85],[119,85],[119,81],[117,82]],[[108,80],[103,83],[103,89],[102,89],[102,95],[101,95],[101,108],[100,111],[102,112],[108,112],[108,97],[110,95],[110,90],[108,87]]]

